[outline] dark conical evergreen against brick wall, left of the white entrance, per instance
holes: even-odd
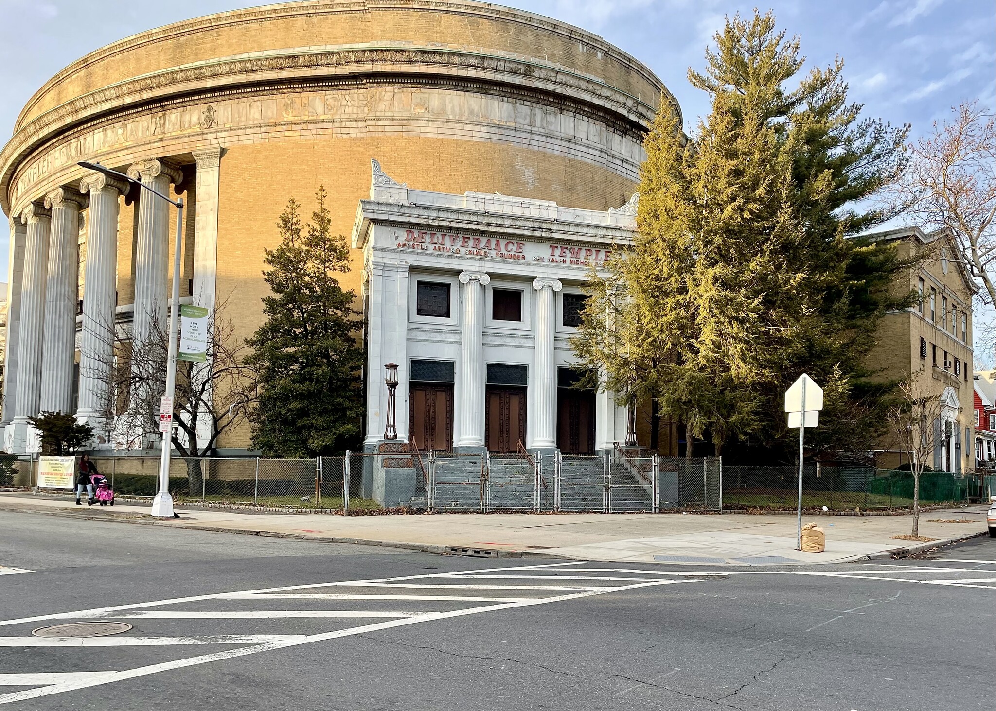
[[[314,457],[358,443],[363,416],[361,322],[337,273],[350,270],[346,238],[332,234],[324,187],[302,225],[293,198],[280,216],[281,243],[266,250],[266,322],[249,345],[259,368],[259,416],[253,446],[266,456]]]

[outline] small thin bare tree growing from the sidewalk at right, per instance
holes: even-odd
[[[888,423],[899,445],[910,458],[909,469],[913,475],[913,530],[919,536],[920,527],[920,475],[932,460],[937,446],[937,428],[941,424],[944,406],[939,395],[920,392],[921,367],[899,382],[898,400],[888,411]]]

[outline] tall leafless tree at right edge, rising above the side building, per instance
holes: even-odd
[[[903,202],[928,229],[950,232],[959,261],[978,295],[996,304],[996,117],[978,102],[907,146],[899,183]]]

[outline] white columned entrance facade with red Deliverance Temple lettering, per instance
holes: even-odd
[[[357,211],[353,246],[364,251],[367,318],[366,446],[383,441],[384,365],[398,365],[396,426],[407,441],[412,361],[453,365],[452,446],[486,445],[488,365],[528,373],[523,445],[558,446],[558,375],[577,364],[564,324],[564,298],[582,295],[592,266],[632,243],[635,200],[600,212],[555,202],[468,192],[410,189],[373,161],[369,200]],[[448,286],[448,315],[418,313],[419,282]],[[521,293],[518,321],[493,318],[496,289]],[[625,408],[595,395],[596,450],[625,437]],[[421,445],[419,445],[421,446]],[[494,445],[491,446],[494,449]]]

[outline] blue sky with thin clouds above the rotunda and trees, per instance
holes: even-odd
[[[237,0],[0,0],[0,136],[31,95],[98,47],[159,25],[257,5]],[[517,7],[596,32],[652,69],[681,104],[686,127],[708,110],[686,80],[723,16],[775,11],[802,39],[808,66],[846,61],[853,100],[865,114],[929,130],[952,106],[996,107],[996,4],[992,0],[519,0]],[[7,273],[0,221],[0,275]],[[5,276],[0,279],[6,278]]]

